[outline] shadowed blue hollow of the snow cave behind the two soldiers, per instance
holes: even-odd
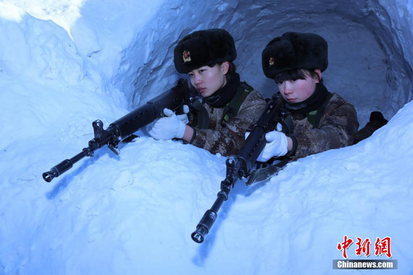
[[[373,110],[390,119],[412,100],[412,3],[384,0],[172,1],[161,5],[122,52],[112,83],[137,107],[182,75],[173,49],[195,30],[224,28],[236,41],[241,79],[266,97],[276,91],[261,69],[266,44],[287,31],[326,38],[327,88],[352,102],[361,127]],[[185,76],[184,76],[185,77]]]

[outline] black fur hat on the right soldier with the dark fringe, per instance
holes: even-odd
[[[318,34],[288,32],[275,37],[262,51],[265,76],[291,69],[320,69],[328,66],[327,41]]]

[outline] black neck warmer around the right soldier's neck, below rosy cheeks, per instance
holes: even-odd
[[[327,100],[327,97],[327,88],[323,83],[320,82],[315,85],[315,91],[308,99],[298,103],[286,102],[285,106],[292,112],[308,114],[311,111],[317,110],[318,107],[323,105],[323,103]]]

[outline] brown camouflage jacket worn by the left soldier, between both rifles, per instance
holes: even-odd
[[[252,90],[242,102],[238,114],[222,125],[224,108],[214,108],[203,103],[209,115],[208,129],[195,128],[190,144],[206,149],[212,154],[235,155],[245,141],[245,131],[257,122],[266,107],[265,100]]]

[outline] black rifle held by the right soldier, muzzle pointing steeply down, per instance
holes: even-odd
[[[226,177],[221,182],[221,191],[211,209],[206,210],[196,230],[191,234],[193,241],[201,243],[218,217],[218,211],[239,179],[249,176],[261,151],[264,149],[265,134],[275,129],[278,122],[287,116],[280,94],[274,94],[264,113],[254,125],[250,135],[244,141],[238,155],[229,156],[226,161]]]

